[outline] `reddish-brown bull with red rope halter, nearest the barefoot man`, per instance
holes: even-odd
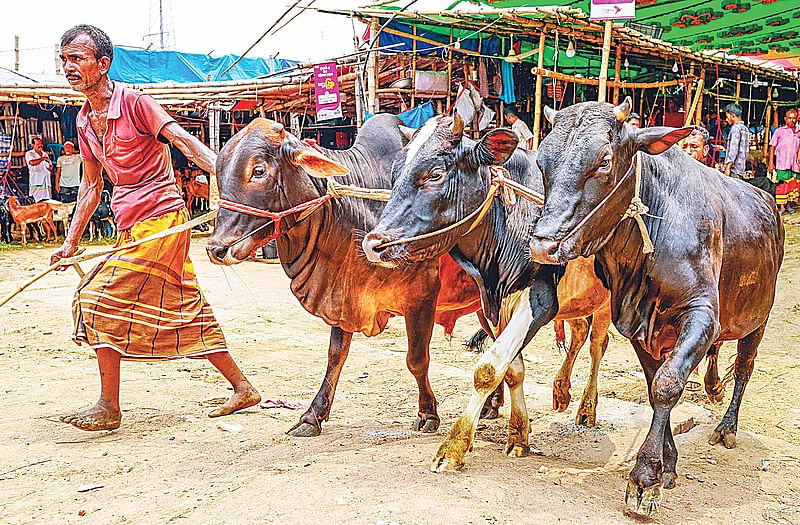
[[[391,115],[377,115],[364,124],[351,149],[323,155],[280,124],[256,119],[219,154],[220,195],[227,202],[283,212],[323,197],[327,188],[319,177],[340,175],[338,181],[345,184],[391,188],[392,162],[407,142],[400,124]],[[291,429],[295,436],[318,435],[328,419],[353,333],[377,335],[393,316],[405,317],[406,364],[419,387],[413,428],[433,432],[439,426],[428,381],[434,318],[451,328],[456,315],[480,307],[479,295],[475,284],[447,259],[406,264],[399,270],[369,264],[357,240],[359,232],[376,224],[383,207],[382,202],[348,197],[329,200],[306,216],[283,217],[278,231],[267,218],[220,209],[208,241],[210,259],[240,262],[277,235],[292,292],[303,308],[332,327],[325,379]]]

